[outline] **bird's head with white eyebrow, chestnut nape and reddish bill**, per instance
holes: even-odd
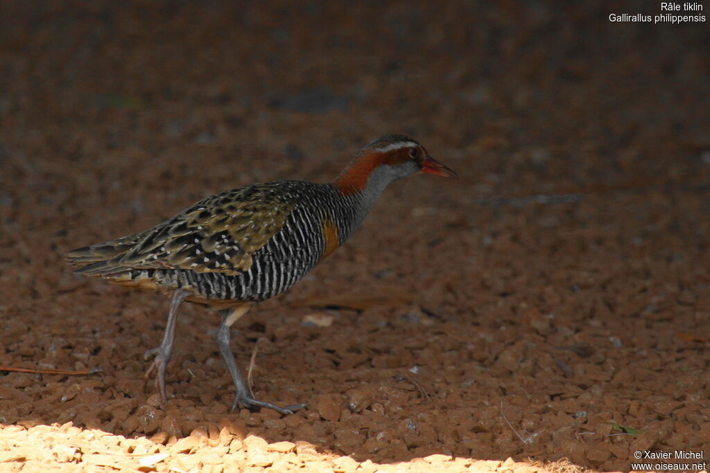
[[[335,185],[344,194],[351,194],[364,191],[368,183],[386,186],[395,179],[416,172],[457,177],[453,169],[431,157],[427,150],[412,138],[404,135],[383,135],[368,143],[359,152],[355,160],[335,179]]]

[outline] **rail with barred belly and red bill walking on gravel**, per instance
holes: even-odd
[[[178,310],[191,301],[219,313],[217,347],[236,391],[231,408],[290,414],[306,404],[280,407],[253,396],[229,347],[231,325],[302,279],[350,238],[388,184],[417,172],[457,177],[412,138],[383,135],[332,182],[278,180],[222,191],[141,233],[72,250],[67,262],[77,274],[170,294],[163,340],[145,353],[153,357],[145,377],[155,372],[163,404]]]

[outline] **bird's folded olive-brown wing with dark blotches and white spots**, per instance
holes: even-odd
[[[251,267],[251,255],[281,230],[295,208],[289,197],[276,182],[224,191],[134,235],[133,243],[111,263],[122,268],[241,274]],[[105,268],[100,272],[107,273]]]

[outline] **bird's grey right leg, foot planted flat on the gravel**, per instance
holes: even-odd
[[[219,323],[219,328],[217,329],[217,346],[219,347],[219,353],[222,354],[224,358],[224,363],[227,369],[229,369],[229,374],[231,374],[231,380],[234,382],[234,389],[236,389],[236,397],[234,398],[234,404],[231,408],[236,409],[239,405],[244,406],[249,409],[266,407],[277,411],[282,414],[293,414],[293,411],[305,407],[305,404],[295,404],[294,406],[279,407],[275,404],[271,404],[266,401],[258,401],[254,399],[253,394],[251,394],[251,389],[244,382],[244,378],[241,377],[239,373],[239,368],[236,367],[236,361],[234,360],[234,354],[231,352],[229,347],[229,328],[231,325],[237,321],[245,313],[249,312],[251,304],[244,304],[243,306],[237,306],[235,308],[228,308],[224,311],[219,311],[219,315],[222,317],[222,322]]]

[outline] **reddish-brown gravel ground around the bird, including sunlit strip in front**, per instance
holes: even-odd
[[[579,3],[4,2],[0,364],[100,371],[1,372],[0,469],[708,461],[709,30]],[[327,181],[383,133],[461,179],[393,184],[234,330],[255,394],[307,408],[229,411],[217,316],[190,304],[161,406],[143,352],[168,299],[63,253]]]

